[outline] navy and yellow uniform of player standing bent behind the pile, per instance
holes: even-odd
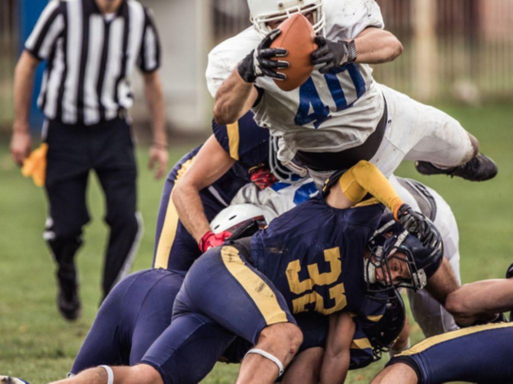
[[[255,124],[251,112],[234,124],[213,122],[212,130],[235,163],[212,185],[200,191],[208,221],[230,204],[239,189],[251,181],[249,170],[267,166],[269,157],[269,131]],[[170,199],[174,184],[180,180],[200,148],[201,145],[183,156],[167,176],[157,216],[152,267],[187,271],[201,255],[198,244],[179,220]]]

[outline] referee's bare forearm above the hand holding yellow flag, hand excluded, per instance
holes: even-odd
[[[23,52],[14,70],[14,123],[13,130],[27,132],[30,100],[34,86],[34,74],[37,67],[37,59],[30,53]]]

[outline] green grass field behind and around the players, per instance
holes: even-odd
[[[464,282],[502,276],[511,263],[513,240],[513,105],[444,108],[478,137],[482,151],[499,165],[499,175],[485,183],[443,176],[421,177],[411,163],[398,175],[435,187],[451,205],[460,228],[461,273]],[[172,138],[171,138],[172,142]],[[171,166],[190,146],[172,147]],[[147,151],[137,152],[140,164],[139,208],[145,233],[134,270],[150,266],[154,223],[162,181],[146,169]],[[104,200],[91,176],[88,205],[92,222],[85,228],[85,246],[78,253],[83,315],[67,323],[55,305],[53,262],[41,237],[46,205],[43,189],[24,179],[13,165],[7,139],[0,141],[0,374],[41,383],[65,377],[94,318],[100,301],[100,269],[107,239],[102,220]],[[412,340],[422,338],[412,326]],[[383,359],[385,360],[385,359]],[[355,372],[347,382],[365,383],[385,361]],[[204,383],[233,382],[237,366],[218,365]]]

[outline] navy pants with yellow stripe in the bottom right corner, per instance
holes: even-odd
[[[513,382],[513,323],[487,324],[428,337],[388,365],[410,366],[420,384]]]

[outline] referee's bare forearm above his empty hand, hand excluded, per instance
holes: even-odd
[[[166,118],[164,113],[164,95],[159,75],[156,72],[145,75],[145,94],[148,110],[151,115],[153,141],[159,144],[167,144]]]

